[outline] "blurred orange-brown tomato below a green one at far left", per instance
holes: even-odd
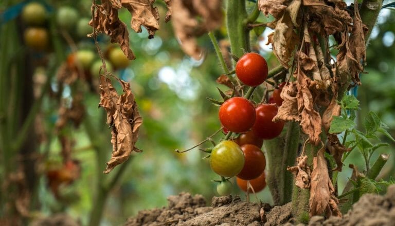
[[[48,32],[44,28],[27,28],[23,34],[26,46],[34,50],[47,49],[49,37]]]

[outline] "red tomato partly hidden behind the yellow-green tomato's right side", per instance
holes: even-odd
[[[243,180],[251,180],[259,177],[266,167],[266,158],[261,149],[253,144],[245,144],[241,146],[244,153],[244,166],[237,175]]]

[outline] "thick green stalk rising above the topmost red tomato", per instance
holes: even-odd
[[[239,57],[244,54],[244,51],[250,51],[249,31],[245,18],[247,18],[245,0],[228,0],[226,4],[226,27],[230,50]]]

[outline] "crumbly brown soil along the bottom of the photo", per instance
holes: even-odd
[[[240,197],[213,197],[211,206],[201,195],[191,196],[181,193],[168,197],[168,206],[161,209],[140,211],[136,217],[129,218],[125,225],[247,225],[272,226],[293,224],[291,203],[283,206],[270,206],[266,203],[247,203]],[[385,196],[367,194],[353,205],[343,218],[324,219],[315,216],[308,225],[394,225],[395,222],[395,185],[388,187]],[[304,225],[304,224],[298,224]]]

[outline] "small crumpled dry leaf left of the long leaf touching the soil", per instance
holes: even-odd
[[[296,158],[296,166],[288,166],[286,168],[287,171],[295,176],[295,185],[301,189],[310,188],[311,169],[307,164],[307,159],[308,157],[306,155],[298,157]]]

